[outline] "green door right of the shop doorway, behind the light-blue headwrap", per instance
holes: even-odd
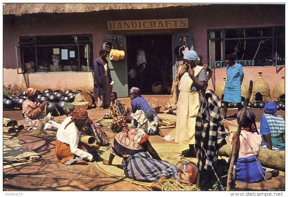
[[[177,62],[183,61],[183,55],[176,55],[174,50],[176,46],[183,46],[183,39],[184,36],[186,36],[186,41],[189,50],[194,50],[194,37],[193,33],[179,33],[179,34],[173,34],[172,35],[172,51],[173,51],[173,80],[175,80],[175,65],[176,65],[176,59]],[[180,40],[181,39],[181,40]]]

